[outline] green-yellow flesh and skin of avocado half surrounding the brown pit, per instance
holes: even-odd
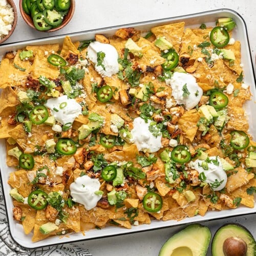
[[[230,223],[221,226],[211,244],[212,256],[225,256],[223,244],[228,238],[240,238],[247,245],[246,256],[256,256],[256,242],[249,230],[240,224]]]

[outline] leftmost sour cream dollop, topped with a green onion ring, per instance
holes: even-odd
[[[50,109],[56,121],[66,124],[73,123],[75,118],[82,114],[82,107],[67,95],[48,99],[45,106]]]

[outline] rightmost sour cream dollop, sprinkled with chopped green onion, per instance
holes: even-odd
[[[197,159],[194,162],[190,162],[190,166],[197,170],[199,174],[204,173],[206,180],[211,189],[214,191],[219,191],[223,189],[227,183],[227,174],[223,170],[221,161],[219,157],[209,157],[209,161],[207,163],[205,160]],[[218,164],[215,161],[218,161]],[[205,170],[202,165],[207,164],[208,169]]]

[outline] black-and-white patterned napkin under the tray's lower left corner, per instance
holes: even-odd
[[[4,256],[92,256],[87,249],[81,249],[74,244],[62,244],[55,246],[40,247],[37,249],[27,249],[13,241],[6,218],[6,208],[2,193],[2,183],[0,180],[0,255]]]

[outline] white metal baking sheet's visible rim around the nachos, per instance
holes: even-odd
[[[251,93],[252,93],[252,100],[245,104],[245,110],[248,115],[249,119],[249,127],[250,127],[250,134],[256,138],[256,119],[252,118],[250,113],[253,113],[253,109],[255,110],[255,102],[256,102],[256,89],[255,89],[255,77],[253,74],[252,69],[252,58],[250,55],[250,47],[248,42],[248,35],[246,24],[241,15],[237,12],[234,12],[229,9],[219,9],[207,12],[201,12],[191,15],[179,16],[179,17],[170,17],[165,19],[158,19],[158,20],[151,20],[148,22],[136,23],[136,24],[126,24],[120,25],[111,28],[102,28],[98,30],[90,30],[90,31],[83,31],[79,33],[68,34],[73,41],[77,40],[89,40],[93,39],[95,33],[101,33],[106,36],[111,36],[115,33],[118,28],[124,27],[134,27],[141,31],[148,31],[151,27],[161,26],[164,24],[169,23],[177,23],[177,22],[185,22],[186,27],[189,28],[199,28],[199,26],[204,23],[207,26],[215,26],[215,22],[219,17],[232,17],[235,22],[237,23],[237,28],[234,29],[232,37],[236,40],[241,41],[241,62],[244,69],[244,82],[250,85]],[[54,44],[58,43],[61,44],[63,38],[66,35],[55,36],[55,37],[48,37],[44,39],[37,39],[37,40],[28,40],[23,42],[16,42],[14,44],[6,44],[0,46],[0,59],[4,56],[4,54],[8,51],[17,50],[20,48],[24,48],[27,45],[41,45],[41,44]],[[53,245],[53,244],[60,244],[60,243],[70,243],[75,241],[81,240],[89,240],[89,239],[97,239],[97,238],[104,238],[109,236],[117,236],[120,234],[127,234],[131,232],[142,232],[145,230],[152,230],[164,227],[170,227],[185,223],[194,223],[194,222],[201,222],[213,219],[220,219],[220,218],[228,218],[231,216],[239,216],[239,215],[246,215],[246,214],[253,214],[256,212],[256,205],[254,208],[248,208],[240,206],[237,209],[229,209],[229,210],[222,210],[222,211],[209,211],[206,213],[204,217],[195,216],[193,218],[186,218],[181,221],[152,221],[150,225],[143,224],[139,226],[133,226],[132,229],[125,229],[120,227],[113,227],[109,226],[103,229],[93,229],[87,231],[85,233],[71,233],[68,237],[50,237],[42,241],[38,241],[36,243],[32,243],[32,233],[25,235],[23,231],[23,226],[18,224],[16,221],[13,220],[12,217],[12,198],[9,195],[9,191],[11,187],[8,185],[7,181],[9,178],[9,173],[13,172],[12,168],[9,168],[5,164],[6,162],[6,147],[5,141],[0,140],[0,168],[1,168],[1,178],[2,178],[2,185],[4,190],[4,198],[6,203],[7,209],[7,217],[9,220],[9,227],[10,232],[13,239],[20,245],[27,247],[27,248],[36,248],[46,245]]]

